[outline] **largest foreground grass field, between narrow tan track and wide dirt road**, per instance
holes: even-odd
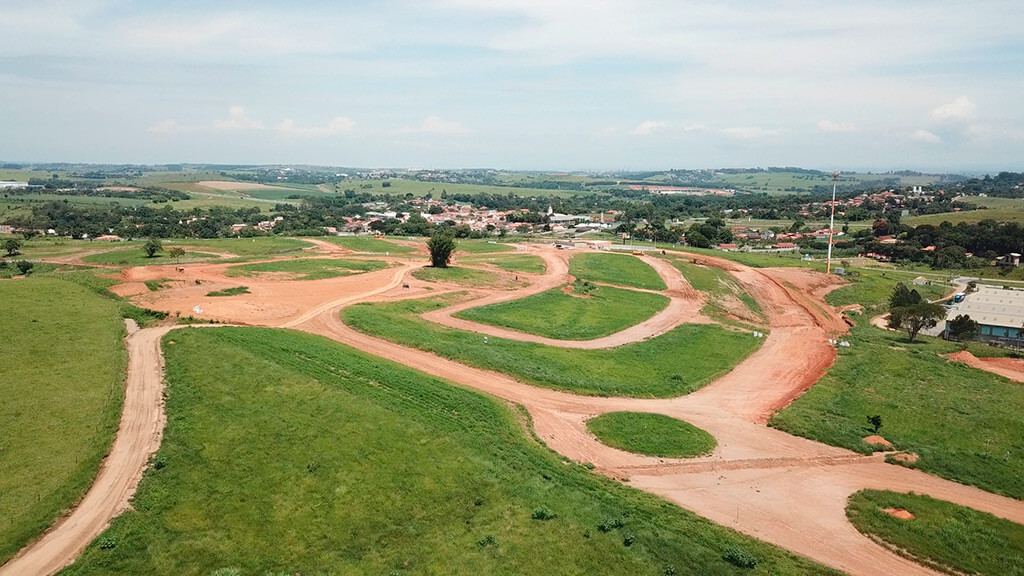
[[[164,349],[158,467],[63,574],[738,574],[731,547],[827,572],[567,465],[504,402],[330,340],[189,329]]]

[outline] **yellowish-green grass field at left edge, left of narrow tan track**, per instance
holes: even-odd
[[[0,564],[85,494],[114,441],[120,308],[54,278],[0,282]]]

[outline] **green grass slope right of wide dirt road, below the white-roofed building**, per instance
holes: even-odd
[[[861,323],[825,376],[770,424],[790,434],[867,453],[866,418],[881,435],[920,455],[916,467],[1024,498],[1024,386],[947,362],[956,346]]]

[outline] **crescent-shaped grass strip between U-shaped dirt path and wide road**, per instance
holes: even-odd
[[[356,304],[349,326],[539,386],[591,396],[667,398],[691,393],[725,374],[763,340],[708,324],[684,324],[656,338],[609,349],[570,349],[488,338],[426,322],[419,315],[458,296]]]

